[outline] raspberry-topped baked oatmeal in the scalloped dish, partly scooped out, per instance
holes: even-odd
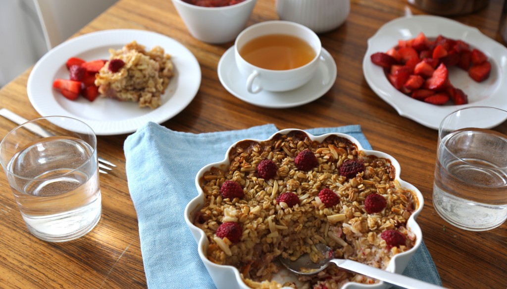
[[[331,246],[337,258],[382,269],[415,244],[407,221],[417,196],[394,180],[389,159],[366,155],[346,138],[318,143],[293,131],[242,141],[229,159],[227,168],[212,168],[200,180],[205,201],[193,222],[209,241],[207,258],[235,266],[252,288],[295,287],[271,280],[277,259],[309,253],[316,262],[317,243]],[[304,288],[375,282],[335,264],[298,278]]]

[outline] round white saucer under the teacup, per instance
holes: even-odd
[[[251,94],[246,90],[246,78],[236,67],[233,46],[220,59],[218,74],[225,89],[245,102],[268,108],[288,108],[312,102],[328,92],[336,80],[336,63],[331,54],[322,48],[317,72],[304,86],[286,92]]]

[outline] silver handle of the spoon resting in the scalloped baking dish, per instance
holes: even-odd
[[[363,263],[359,263],[352,260],[345,260],[345,259],[333,259],[330,262],[335,263],[338,265],[338,267],[353,271],[359,274],[363,274],[378,280],[385,281],[387,283],[401,286],[408,289],[420,289],[420,288],[442,288],[440,286],[427,283],[421,280],[417,280],[414,278],[410,278],[401,274],[395,274],[391,272],[387,272],[382,269],[378,269]]]

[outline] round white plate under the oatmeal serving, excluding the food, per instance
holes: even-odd
[[[140,108],[134,102],[84,97],[66,99],[53,89],[56,78],[68,79],[65,63],[70,57],[86,61],[109,59],[109,49],[120,49],[136,40],[147,50],[160,46],[174,63],[171,78],[161,105],[156,109]],[[97,135],[132,133],[147,121],[161,123],[182,111],[194,99],[201,84],[201,69],[195,56],[182,44],[165,35],[134,29],[104,30],[70,39],[50,50],[33,67],[28,77],[27,93],[35,110],[42,116],[65,115],[78,118]]]

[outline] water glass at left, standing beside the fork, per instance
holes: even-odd
[[[86,123],[65,116],[25,122],[0,143],[0,162],[34,236],[69,241],[98,223],[97,139]]]

